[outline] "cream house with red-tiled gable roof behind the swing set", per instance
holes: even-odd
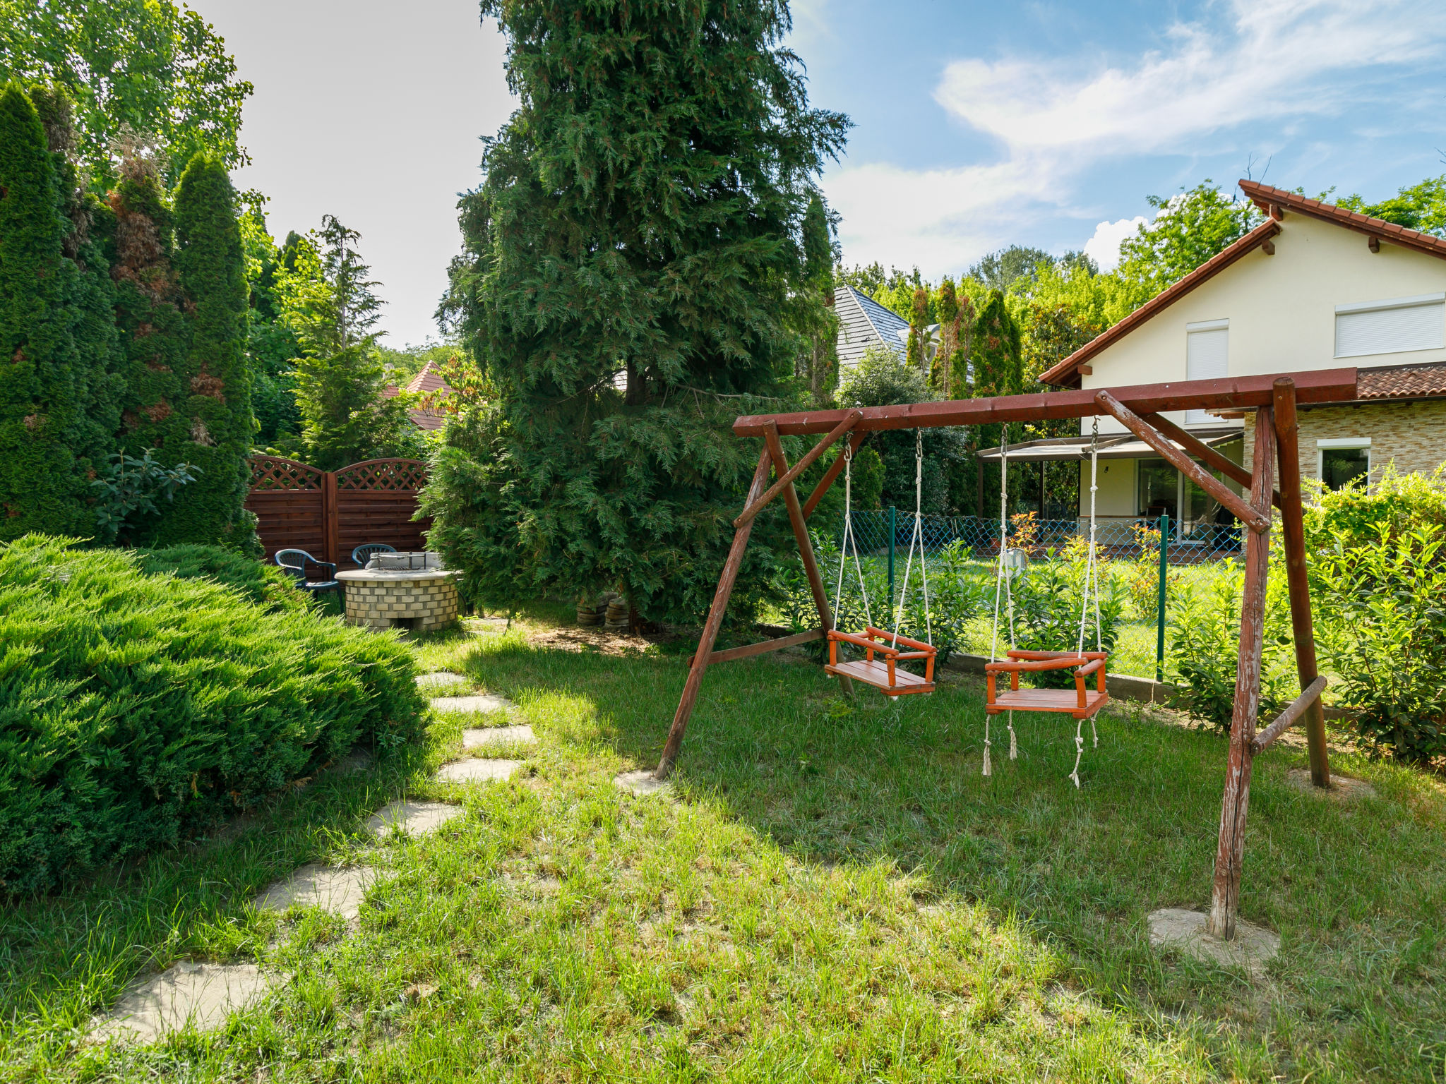
[[[1109,387],[1355,366],[1352,403],[1303,406],[1303,477],[1339,487],[1394,463],[1446,461],[1446,238],[1241,181],[1267,220],[1231,247],[1050,369],[1058,387]],[[1252,418],[1168,415],[1238,463],[1251,461]],[[1011,460],[1082,458],[1082,436],[1011,448]],[[1168,513],[1183,533],[1229,517],[1203,491],[1099,419],[1098,513]],[[1087,515],[1089,483],[1080,486]]]

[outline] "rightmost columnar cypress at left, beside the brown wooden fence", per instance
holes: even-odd
[[[187,351],[178,358],[172,438],[156,458],[189,463],[185,486],[149,530],[150,545],[230,545],[256,552],[256,520],[243,509],[254,419],[246,367],[246,260],[236,191],[218,160],[191,159],[175,198],[176,286],[185,299]],[[179,439],[176,439],[179,438]]]

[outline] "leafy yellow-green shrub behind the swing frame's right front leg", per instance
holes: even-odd
[[[1261,715],[1274,715],[1296,697],[1290,603],[1281,561],[1265,587],[1261,649]],[[1229,731],[1239,666],[1241,598],[1245,571],[1226,562],[1209,581],[1181,581],[1165,606],[1167,676],[1180,687],[1174,704],[1193,718]]]

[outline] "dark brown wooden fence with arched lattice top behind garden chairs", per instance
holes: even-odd
[[[416,491],[427,481],[418,460],[367,460],[321,471],[279,455],[252,457],[246,507],[256,513],[266,556],[305,549],[350,567],[351,551],[367,542],[425,549],[431,519],[414,520]]]

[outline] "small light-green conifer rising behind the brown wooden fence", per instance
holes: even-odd
[[[405,400],[385,399],[376,351],[382,299],[362,260],[362,236],[333,215],[315,237],[288,238],[291,270],[278,286],[295,332],[302,455],[322,470],[408,451]],[[318,244],[320,243],[320,244]]]

